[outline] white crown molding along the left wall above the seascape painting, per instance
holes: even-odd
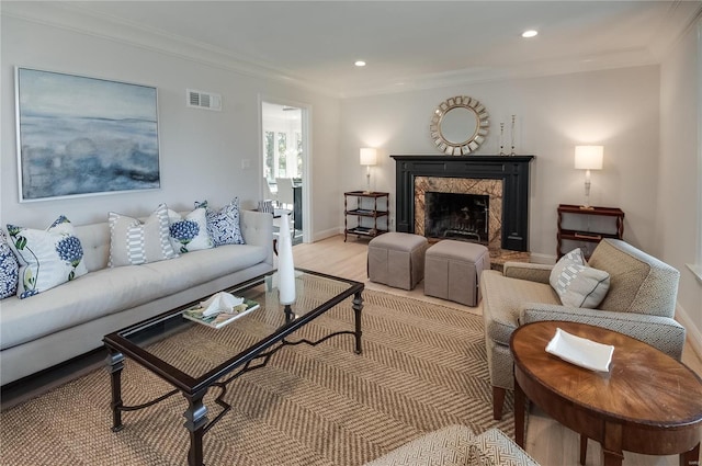
[[[254,78],[284,82],[328,96],[340,96],[338,90],[298,78],[270,64],[254,61],[210,44],[165,31],[146,29],[122,19],[87,12],[65,3],[2,1],[0,15],[127,44]]]

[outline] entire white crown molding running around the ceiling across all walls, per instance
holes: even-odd
[[[141,25],[122,19],[95,14],[67,3],[0,1],[0,14],[128,44],[213,68],[285,83],[327,96],[350,99],[508,79],[657,65],[660,64],[670,47],[682,37],[683,33],[702,16],[702,2],[692,2],[694,3],[693,5],[690,3],[682,0],[671,3],[667,14],[660,20],[660,27],[655,33],[652,33],[655,34],[655,41],[652,42],[650,48],[627,49],[587,57],[563,57],[561,59],[522,62],[499,68],[466,68],[450,72],[405,77],[404,79],[396,79],[396,83],[371,82],[366,83],[362,89],[349,90],[331,89],[324,83],[301,78],[276,67],[274,64],[263,62],[251,56],[235,54],[230,50],[199,43],[165,31],[145,29]],[[691,11],[693,14],[691,14]],[[681,24],[684,26],[681,27]]]

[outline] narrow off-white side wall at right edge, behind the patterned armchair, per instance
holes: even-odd
[[[702,21],[698,22],[702,29]],[[691,27],[668,54],[660,72],[660,160],[658,221],[653,245],[659,257],[680,271],[678,306],[690,341],[702,354],[702,283],[686,263],[694,263],[702,190],[699,167],[702,141],[700,127],[700,50],[698,29]]]

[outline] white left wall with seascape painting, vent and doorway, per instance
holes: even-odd
[[[233,196],[244,206],[260,198],[261,96],[310,105],[315,198],[313,231],[338,227],[339,100],[279,81],[205,66],[146,47],[2,15],[0,219],[45,228],[59,214],[77,224],[105,220],[109,211],[145,215],[166,202],[178,209],[207,198],[217,207]],[[106,78],[158,88],[161,189],[70,200],[19,203],[14,117],[14,66]],[[185,89],[223,95],[222,112],[185,106]],[[249,159],[251,168],[241,169]],[[331,193],[330,193],[331,192]],[[331,214],[333,213],[333,214]],[[317,214],[317,215],[315,215]]]

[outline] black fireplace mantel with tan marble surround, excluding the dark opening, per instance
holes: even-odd
[[[390,157],[396,169],[396,231],[423,234],[427,191],[467,191],[490,196],[491,257],[529,251],[529,181],[534,156]]]

